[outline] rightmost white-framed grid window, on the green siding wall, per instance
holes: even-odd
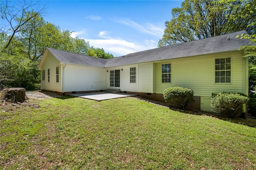
[[[231,82],[231,58],[215,59],[215,83]]]

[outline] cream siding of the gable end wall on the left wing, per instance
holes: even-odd
[[[48,53],[44,64],[42,65],[42,70],[45,70],[45,80],[41,81],[42,90],[51,90],[54,92],[61,92],[61,83],[56,83],[56,66],[60,62],[51,54]],[[59,65],[60,66],[60,65]],[[48,69],[50,69],[49,82],[48,82]],[[61,76],[61,69],[59,69],[59,76]],[[43,79],[43,77],[42,77]],[[59,79],[59,82],[61,80]]]

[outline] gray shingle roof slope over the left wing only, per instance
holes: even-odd
[[[70,63],[70,64],[80,64],[80,65],[86,65],[86,66],[95,66],[95,67],[104,67],[107,60],[96,58],[96,57],[90,57],[87,55],[80,55],[76,53],[70,53],[67,51],[61,51],[56,49],[47,48],[50,53],[60,61],[60,63]]]

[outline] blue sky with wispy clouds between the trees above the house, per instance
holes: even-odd
[[[182,0],[44,0],[44,20],[74,31],[73,37],[89,41],[115,57],[157,48],[165,21]]]

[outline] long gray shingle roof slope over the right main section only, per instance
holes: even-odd
[[[109,59],[105,67],[234,51],[250,43],[250,39],[236,38],[237,35],[241,35],[242,33],[248,34],[246,31],[238,31],[216,37],[132,53],[123,57]]]

